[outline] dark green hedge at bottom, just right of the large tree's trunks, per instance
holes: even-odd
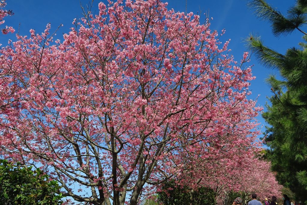
[[[165,183],[161,192],[158,193],[158,200],[164,205],[177,204],[206,204],[215,205],[215,191],[208,187],[200,187],[198,190],[190,190],[187,186],[180,187],[173,181]]]

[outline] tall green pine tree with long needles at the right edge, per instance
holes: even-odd
[[[271,23],[276,37],[299,30],[307,41],[306,33],[301,30],[307,24],[306,0],[298,0],[287,16],[263,0],[251,1],[248,6],[255,9],[258,18]],[[271,125],[265,133],[270,148],[268,158],[278,181],[304,201],[307,199],[307,44],[300,43],[301,48],[290,48],[285,55],[264,46],[259,37],[251,36],[248,45],[263,65],[279,71],[281,80],[274,75],[266,79],[273,93],[266,104],[267,112],[262,115]]]

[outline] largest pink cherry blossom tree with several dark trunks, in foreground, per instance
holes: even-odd
[[[166,5],[99,3],[63,42],[47,25],[3,47],[1,157],[41,168],[65,196],[105,205],[135,205],[187,173],[205,183],[193,164],[211,177],[228,162],[244,168],[237,153],[258,147],[262,109],[247,100],[248,53],[236,62],[208,20]]]

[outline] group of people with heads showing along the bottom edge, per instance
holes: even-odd
[[[251,195],[251,198],[252,200],[248,202],[248,205],[263,205],[262,202],[257,200],[257,194],[253,193]],[[272,196],[271,200],[269,200],[268,198],[264,199],[264,205],[300,205],[298,201],[290,202],[290,198],[286,194],[283,195],[282,200],[283,204],[279,204],[277,202],[276,196]],[[232,205],[242,205],[242,203],[243,200],[241,199],[241,197],[237,197],[232,203]]]

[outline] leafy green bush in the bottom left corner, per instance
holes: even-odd
[[[58,205],[62,204],[60,186],[49,181],[40,169],[21,168],[0,160],[1,205]]]

